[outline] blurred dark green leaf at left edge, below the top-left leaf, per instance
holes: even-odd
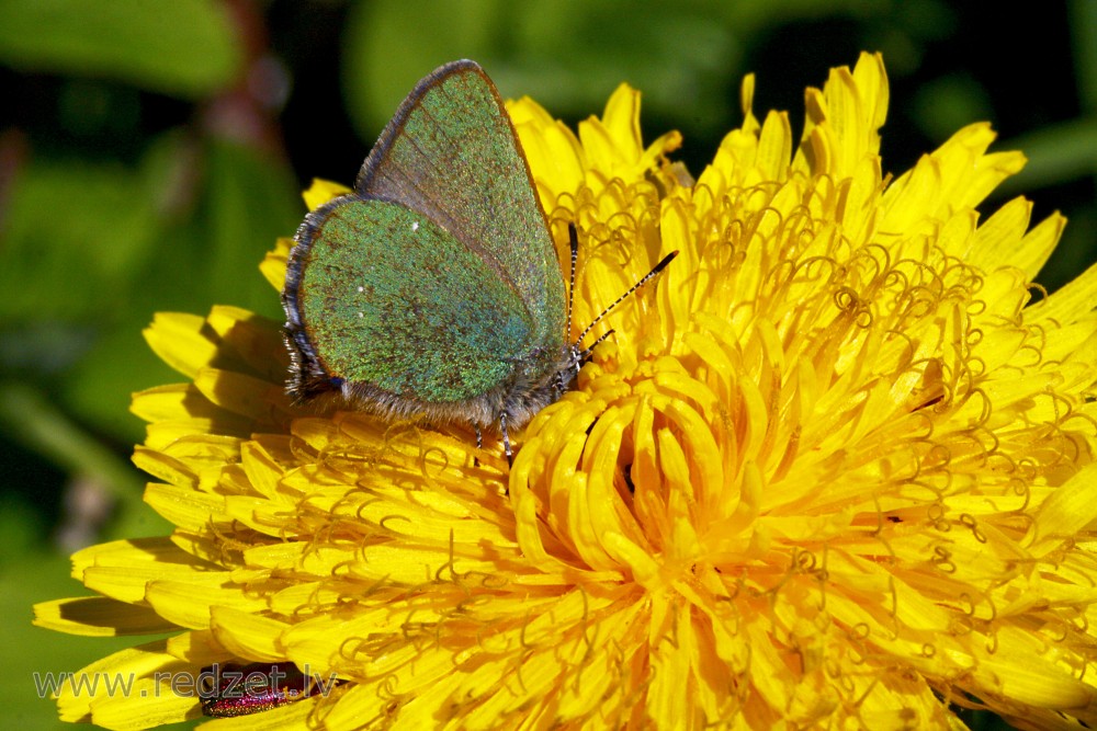
[[[166,189],[181,157],[167,136],[137,167],[32,159],[3,220],[0,287],[11,294],[0,300],[0,367],[54,395],[87,395],[77,398],[80,415],[120,436],[140,435],[126,413],[139,384],[120,381],[154,361],[139,340],[150,312],[135,308],[133,293],[171,219]],[[111,366],[83,377],[91,364],[81,358],[115,328],[133,330],[131,351],[112,351]]]

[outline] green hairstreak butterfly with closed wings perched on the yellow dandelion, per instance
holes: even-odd
[[[593,347],[579,346],[586,332],[569,340],[529,164],[473,61],[416,85],[353,193],[308,214],[295,242],[282,302],[297,402],[335,392],[477,434],[498,424],[510,458],[508,427],[558,399]],[[573,228],[573,278],[576,245]]]

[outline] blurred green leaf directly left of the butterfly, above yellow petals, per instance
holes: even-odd
[[[182,379],[142,336],[155,312],[205,315],[213,305],[234,305],[283,317],[259,263],[304,217],[293,176],[284,162],[234,142],[207,140],[199,155],[190,165],[200,179],[188,217],[160,231],[126,305],[58,389],[82,419],[127,441],[144,435],[128,413],[131,395]]]

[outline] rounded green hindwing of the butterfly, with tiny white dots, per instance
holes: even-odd
[[[421,401],[482,396],[535,349],[512,286],[396,203],[349,198],[329,212],[299,301],[328,374]]]

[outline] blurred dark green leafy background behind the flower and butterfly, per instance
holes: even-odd
[[[156,311],[213,304],[280,317],[257,265],[304,214],[314,176],[350,183],[416,80],[480,61],[505,96],[574,123],[621,81],[646,139],[678,128],[699,172],[755,112],[795,128],[803,90],[880,50],[891,80],[884,169],[970,122],[1028,168],[1025,193],[1071,220],[1041,283],[1097,260],[1097,2],[0,0],[0,629],[9,726],[56,728],[32,673],[121,647],[30,626],[34,602],[82,593],[67,556],[159,535],[128,455],[129,393],[180,379],[145,346]],[[987,716],[974,728],[997,728]]]

